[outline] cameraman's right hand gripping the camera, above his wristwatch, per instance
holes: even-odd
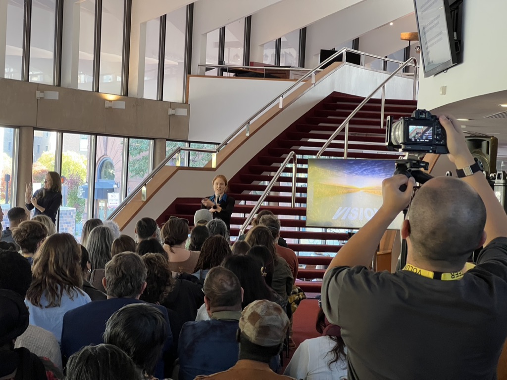
[[[439,121],[447,134],[447,149],[449,160],[462,168],[474,163],[474,156],[468,150],[461,124],[453,116],[439,116]]]

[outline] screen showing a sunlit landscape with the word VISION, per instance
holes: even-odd
[[[392,177],[393,160],[308,159],[306,225],[363,227],[382,205],[382,181]],[[400,229],[400,214],[389,229]]]

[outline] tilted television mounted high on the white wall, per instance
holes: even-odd
[[[414,0],[425,77],[447,70],[458,63],[460,53],[460,41],[456,30],[458,12],[454,4],[451,12],[451,3],[461,2]]]

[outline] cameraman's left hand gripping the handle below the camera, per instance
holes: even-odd
[[[405,191],[400,190],[400,186],[407,185]],[[400,214],[410,202],[412,190],[415,186],[414,178],[407,178],[403,174],[386,178],[382,181],[382,208],[388,212],[394,219]]]

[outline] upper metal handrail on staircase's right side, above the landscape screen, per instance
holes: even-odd
[[[340,126],[338,127],[338,129],[331,135],[331,137],[328,139],[328,141],[326,141],[324,143],[324,145],[322,146],[322,148],[320,148],[320,150],[317,152],[317,158],[320,158],[320,156],[322,155],[322,153],[330,146],[330,144],[333,142],[333,140],[336,138],[336,136],[338,136],[338,134],[340,132],[342,132],[343,128],[345,127],[345,141],[344,141],[344,146],[343,146],[343,157],[344,158],[347,158],[347,146],[348,146],[348,124],[350,122],[350,120],[352,119],[352,117],[355,116],[355,114],[361,109],[363,108],[363,106],[368,103],[370,101],[370,99],[373,98],[373,96],[380,90],[382,89],[382,101],[381,101],[381,104],[382,104],[382,127],[383,127],[383,123],[384,123],[384,104],[385,104],[385,85],[386,83],[391,80],[398,72],[400,72],[401,70],[403,70],[405,67],[409,66],[409,64],[411,62],[414,62],[414,89],[413,89],[413,100],[416,100],[416,94],[417,94],[417,59],[415,59],[414,57],[410,58],[409,60],[407,60],[406,62],[403,63],[403,65],[401,65],[399,68],[397,68],[396,70],[394,70],[394,72],[389,75],[387,77],[387,79],[385,79],[382,83],[380,83],[380,85],[375,89],[373,90],[373,92],[368,95],[361,103],[359,103],[359,105],[352,111],[352,113],[350,115],[347,116],[347,118],[345,120],[343,120],[343,122],[340,124]]]

